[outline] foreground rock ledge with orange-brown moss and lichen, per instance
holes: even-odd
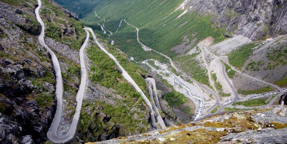
[[[287,116],[274,112],[282,106],[226,113],[165,130],[94,143],[286,143]]]

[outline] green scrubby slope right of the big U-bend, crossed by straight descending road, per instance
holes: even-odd
[[[101,38],[99,41],[147,93],[144,80],[147,72],[107,41]],[[102,141],[151,130],[148,106],[140,93],[123,78],[119,67],[93,42],[89,42],[86,53],[89,78],[78,129],[79,139]]]

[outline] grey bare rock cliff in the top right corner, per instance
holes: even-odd
[[[251,40],[287,33],[286,0],[196,0],[186,3],[199,14],[210,14],[216,27]],[[231,36],[230,33],[224,33]]]

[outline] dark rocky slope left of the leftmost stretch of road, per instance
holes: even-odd
[[[35,41],[41,26],[29,18],[34,8],[29,4],[14,7],[0,2],[1,143],[47,141],[54,113],[52,65],[48,53]]]

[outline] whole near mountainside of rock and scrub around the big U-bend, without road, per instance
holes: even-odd
[[[63,136],[71,126],[77,105],[79,48],[86,33],[76,15],[54,1],[41,2],[39,13],[45,23],[45,43],[56,54],[63,78],[63,111],[57,131],[58,136]],[[44,143],[56,110],[55,74],[49,53],[38,42],[41,25],[34,14],[37,1],[0,3],[0,139],[4,143]],[[147,72],[107,41],[99,40],[148,94],[144,80]],[[75,142],[150,131],[151,115],[140,93],[94,42],[89,41],[87,49],[88,84]]]

